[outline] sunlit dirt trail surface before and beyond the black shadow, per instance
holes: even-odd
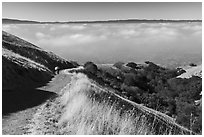
[[[56,75],[46,86],[38,89],[48,92],[58,93],[67,83],[70,82],[70,76],[61,72]],[[27,132],[24,128],[29,123],[36,111],[42,105],[38,105],[26,110],[18,111],[7,116],[2,116],[2,134],[21,135]]]

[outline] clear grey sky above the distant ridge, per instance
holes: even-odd
[[[35,21],[202,19],[202,3],[3,2],[2,17]]]

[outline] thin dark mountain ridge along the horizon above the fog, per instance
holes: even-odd
[[[165,20],[165,19],[124,19],[124,20],[100,20],[100,21],[56,21],[56,22],[40,22],[30,20],[8,19],[3,18],[2,24],[69,24],[69,23],[179,23],[179,22],[202,22],[202,20]]]

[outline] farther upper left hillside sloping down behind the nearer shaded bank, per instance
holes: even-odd
[[[54,72],[55,66],[61,69],[74,67],[72,63],[54,53],[45,51],[5,31],[2,32],[2,48],[42,64],[51,72]]]

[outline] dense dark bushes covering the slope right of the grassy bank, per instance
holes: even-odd
[[[95,74],[86,69],[81,72],[100,85],[114,89],[118,95],[165,113],[201,134],[202,110],[195,100],[201,98],[202,78],[176,78],[185,71],[163,68],[149,61],[135,67],[133,63],[129,67],[116,63],[111,68],[98,67]]]

